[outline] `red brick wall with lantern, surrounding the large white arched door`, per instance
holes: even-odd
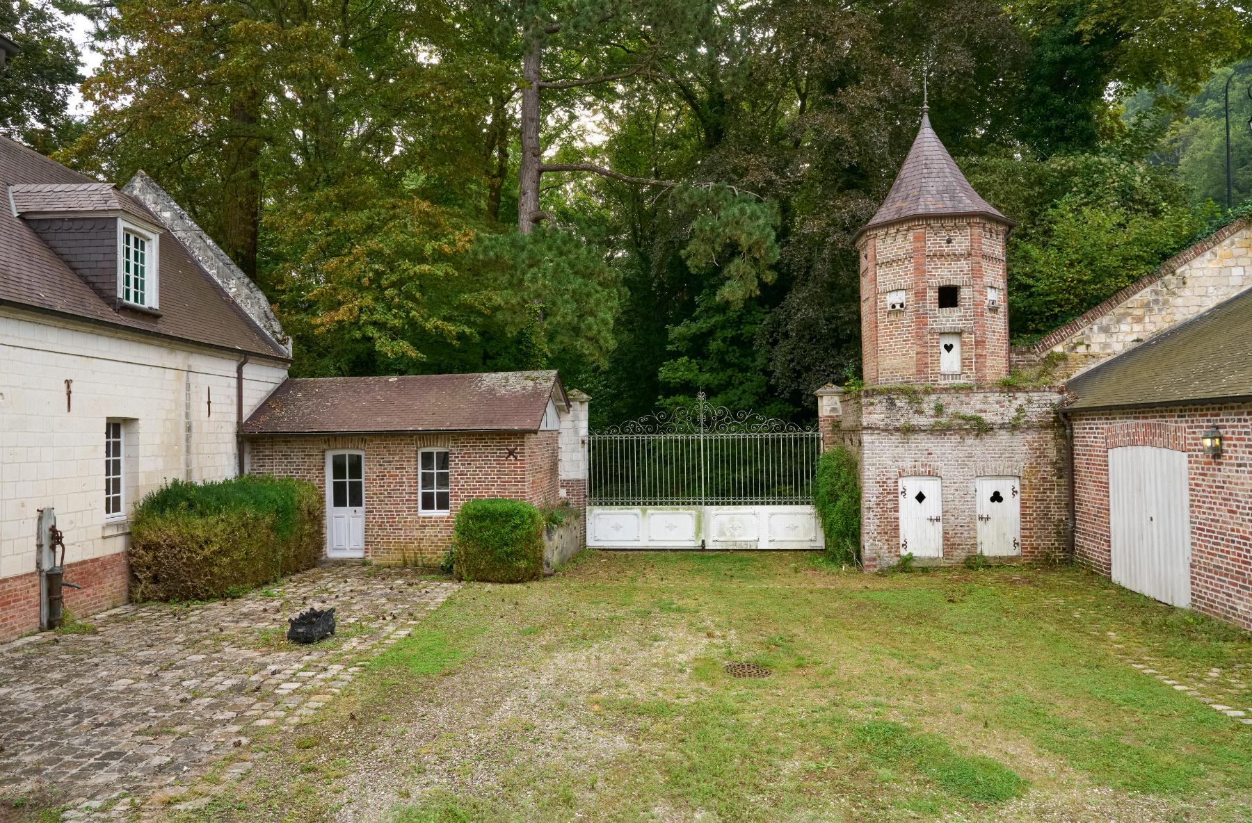
[[[1223,454],[1203,453],[1217,424]],[[1111,574],[1108,450],[1152,445],[1187,454],[1192,607],[1252,629],[1252,404],[1074,414],[1075,533],[1079,562]]]

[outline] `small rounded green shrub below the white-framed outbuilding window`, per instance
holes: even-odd
[[[543,515],[521,500],[470,500],[452,525],[452,554],[462,580],[535,580],[543,574]]]

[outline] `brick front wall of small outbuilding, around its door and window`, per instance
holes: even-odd
[[[366,558],[432,565],[448,550],[452,523],[473,498],[512,498],[552,505],[560,493],[557,432],[270,435],[248,443],[249,472],[308,480],[326,494],[326,453],[364,452]],[[448,450],[447,514],[418,510],[417,453]],[[516,455],[516,457],[515,457]]]

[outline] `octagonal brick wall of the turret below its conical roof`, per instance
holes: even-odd
[[[1004,229],[979,219],[919,218],[860,240],[861,366],[868,385],[993,383],[1008,374]],[[939,286],[959,286],[954,308]],[[1000,305],[987,305],[988,286]],[[904,309],[889,295],[904,291]],[[958,375],[940,374],[939,335],[960,334]]]

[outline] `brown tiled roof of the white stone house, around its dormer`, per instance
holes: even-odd
[[[10,186],[100,186],[96,180],[0,138],[0,191]],[[95,195],[93,195],[95,196]],[[153,225],[162,221],[134,198],[114,190],[118,203],[139,209]],[[4,198],[8,200],[8,195]],[[164,233],[160,250],[160,313],[115,311],[61,260],[9,203],[0,204],[0,304],[55,311],[115,328],[203,343],[240,353],[287,359],[195,263],[187,248]]]

